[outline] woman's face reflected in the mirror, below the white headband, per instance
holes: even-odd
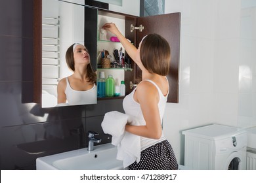
[[[87,66],[90,63],[90,55],[87,48],[82,44],[78,44],[74,48],[75,67],[79,65]]]

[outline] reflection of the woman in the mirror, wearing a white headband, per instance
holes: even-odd
[[[72,44],[66,52],[66,62],[74,73],[58,83],[58,104],[66,101],[70,105],[96,103],[96,73],[91,67],[87,48]]]

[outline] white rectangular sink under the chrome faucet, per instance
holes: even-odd
[[[37,170],[114,170],[123,169],[123,161],[116,159],[117,148],[112,144],[54,154],[36,159]]]

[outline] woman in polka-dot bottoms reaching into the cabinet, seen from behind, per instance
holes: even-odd
[[[166,75],[169,73],[171,50],[160,35],[150,34],[135,48],[119,32],[116,25],[107,23],[104,29],[114,33],[125,51],[142,70],[142,82],[123,99],[125,114],[136,118],[140,125],[125,125],[125,131],[140,136],[140,161],[129,169],[178,169],[171,144],[162,133],[163,112],[169,93]]]

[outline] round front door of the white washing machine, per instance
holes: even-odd
[[[244,170],[246,169],[246,155],[241,152],[232,152],[226,159],[224,170]]]

